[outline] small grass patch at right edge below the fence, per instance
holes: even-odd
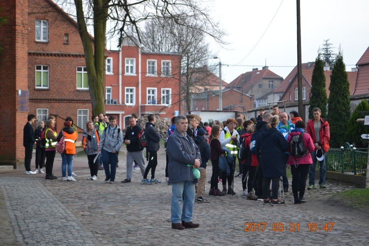
[[[369,211],[369,188],[342,191],[334,195],[344,204]]]

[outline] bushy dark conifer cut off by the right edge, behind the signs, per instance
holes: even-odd
[[[365,118],[368,113],[369,103],[366,100],[362,100],[348,121],[345,141],[355,145],[356,148],[368,147],[368,140],[362,139],[361,135],[369,134],[369,127],[363,123],[356,122],[357,119]]]

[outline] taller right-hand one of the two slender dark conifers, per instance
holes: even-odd
[[[333,148],[338,148],[346,142],[344,136],[350,118],[350,84],[345,68],[342,52],[339,50],[333,64],[328,99],[328,122],[331,128],[329,143]]]

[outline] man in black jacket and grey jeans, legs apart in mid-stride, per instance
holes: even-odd
[[[127,146],[127,178],[122,183],[130,183],[132,178],[133,160],[140,166],[141,174],[145,174],[143,148],[139,145],[138,135],[142,128],[136,124],[136,118],[129,117],[129,127],[125,131],[124,144]]]

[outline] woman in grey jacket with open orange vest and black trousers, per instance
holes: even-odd
[[[97,171],[98,171],[99,161],[98,161],[98,158],[96,158],[95,160],[95,157],[97,155],[97,149],[99,148],[99,143],[100,143],[99,131],[95,129],[92,122],[86,123],[86,130],[83,133],[83,138],[82,138],[82,149],[87,154],[87,158],[89,160],[91,176],[87,178],[87,180],[97,180]]]

